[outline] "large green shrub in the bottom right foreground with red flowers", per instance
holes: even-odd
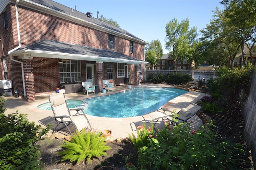
[[[197,132],[190,132],[186,124],[174,126],[172,131],[166,126],[154,140],[158,142],[139,149],[138,170],[236,170],[240,156],[246,154],[241,145],[217,141],[210,125]]]

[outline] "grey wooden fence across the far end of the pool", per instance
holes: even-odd
[[[216,78],[215,70],[146,70],[146,75],[144,81],[147,82],[149,74],[189,74],[194,78],[194,80],[199,80],[205,78]]]

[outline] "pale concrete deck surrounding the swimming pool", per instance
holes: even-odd
[[[174,87],[167,84],[141,84],[139,86],[133,87]],[[110,95],[113,93],[118,93],[128,90],[128,85],[120,85],[120,86],[114,86],[113,91],[107,91],[106,93],[99,93],[99,94],[93,94],[90,93],[88,96],[86,94],[83,94],[83,92],[78,93],[70,93],[65,94],[67,99],[76,99],[76,100],[83,100],[86,98],[96,97],[96,96],[105,96]],[[189,91],[185,94],[182,94],[181,96],[178,96],[166,104],[164,106],[168,106],[170,110],[175,110],[176,112],[180,111],[181,108],[188,106],[191,102],[197,102],[200,98],[202,98],[205,94],[201,92],[195,92],[195,91]],[[15,113],[16,110],[18,110],[19,113],[27,114],[27,118],[30,122],[35,122],[35,124],[48,124],[48,123],[54,123],[54,118],[52,118],[53,113],[51,110],[39,110],[37,108],[38,105],[49,102],[48,95],[42,95],[42,96],[36,96],[36,100],[32,102],[26,102],[26,100],[21,98],[15,98],[14,96],[7,96],[4,97],[7,101],[5,102],[4,108],[6,108],[5,114]],[[90,125],[92,126],[93,130],[111,130],[112,131],[112,137],[113,138],[126,138],[128,134],[135,134],[136,127],[139,125],[142,125],[143,122],[145,122],[144,118],[142,116],[136,116],[136,117],[130,117],[130,118],[104,118],[104,117],[98,117],[98,116],[91,116],[86,114]],[[148,115],[145,115],[144,117],[147,118]],[[148,120],[150,120],[150,116],[148,116]],[[193,122],[191,125],[192,130],[198,129],[199,126],[202,126],[202,120],[197,116],[193,116],[190,120],[190,122]],[[188,121],[188,122],[189,122]],[[146,124],[147,126],[149,124]],[[149,125],[150,126],[150,125]],[[44,127],[44,126],[42,126]],[[164,122],[158,121],[158,123],[155,126],[156,128],[163,128]],[[49,132],[52,133],[51,131]]]

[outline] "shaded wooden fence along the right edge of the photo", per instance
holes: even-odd
[[[244,139],[251,150],[252,160],[256,162],[256,70],[254,70],[250,91],[242,107],[244,117]]]

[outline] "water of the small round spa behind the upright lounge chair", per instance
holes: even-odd
[[[67,100],[68,108],[78,108],[78,107],[86,107],[87,102],[82,100]],[[44,103],[37,106],[38,109],[41,110],[52,110],[50,103]]]

